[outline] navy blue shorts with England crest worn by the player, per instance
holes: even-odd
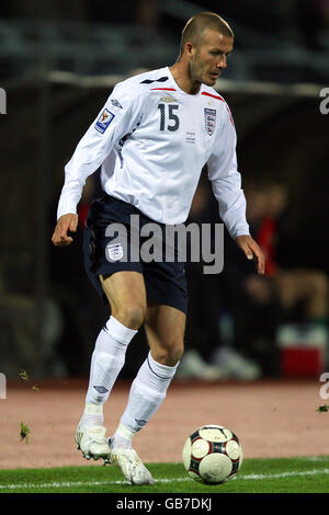
[[[161,305],[171,306],[186,313],[189,296],[185,263],[178,260],[166,262],[164,258],[161,262],[155,260],[145,262],[140,255],[138,255],[136,260],[136,255],[139,254],[139,249],[137,249],[137,254],[135,249],[133,260],[131,260],[132,247],[136,241],[132,238],[132,215],[139,216],[140,228],[146,224],[154,222],[154,220],[140,213],[139,209],[132,204],[127,204],[106,194],[91,204],[83,234],[83,255],[86,271],[92,285],[95,287],[103,302],[107,304],[109,300],[102,289],[99,275],[106,277],[115,272],[139,272],[144,276],[148,299]],[[124,252],[126,253],[125,260],[122,259],[122,247],[111,243],[112,241],[117,241],[117,233],[114,233],[112,237],[105,234],[106,228],[109,226],[113,228],[113,224],[121,224],[125,227],[127,234],[127,245],[126,248],[123,245]],[[163,224],[158,224],[158,226],[164,231],[166,226]],[[146,240],[147,238],[139,237],[140,247]],[[163,256],[164,255],[163,251]],[[177,259],[175,252],[174,255]]]

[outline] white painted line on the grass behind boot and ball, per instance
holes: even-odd
[[[250,473],[250,474],[239,474],[237,480],[261,480],[261,479],[281,479],[281,478],[292,478],[292,477],[303,477],[303,476],[317,476],[317,474],[329,474],[329,469],[313,469],[313,470],[303,470],[303,471],[292,471],[292,472],[280,472],[272,474],[262,474],[262,473]],[[181,483],[181,482],[192,482],[193,480],[189,477],[185,478],[161,478],[157,479],[155,483]],[[20,489],[47,489],[47,488],[71,488],[71,487],[102,487],[102,485],[115,485],[115,484],[129,484],[127,481],[76,481],[76,482],[49,482],[49,483],[16,483],[16,484],[0,484],[1,490],[20,490]]]

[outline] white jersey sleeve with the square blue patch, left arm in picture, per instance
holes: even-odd
[[[98,117],[80,139],[65,167],[65,183],[59,197],[57,219],[77,213],[89,175],[95,172],[123,136],[132,133],[140,116],[140,95],[117,84]]]

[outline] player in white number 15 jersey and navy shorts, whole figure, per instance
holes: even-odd
[[[154,482],[132,448],[132,438],[166,398],[182,357],[186,282],[179,260],[123,260],[123,245],[111,247],[106,228],[123,224],[132,231],[132,215],[138,215],[141,228],[150,221],[162,229],[184,222],[206,164],[231,238],[248,259],[254,259],[258,273],[264,273],[263,254],[246,220],[234,121],[213,89],[232,46],[232,31],[219,15],[193,16],[183,28],[177,62],[116,84],[65,168],[52,241],[58,247],[72,242],[86,179],[101,167],[104,195],[88,215],[84,259],[90,279],[111,307],[92,354],[76,442],[86,458],[117,465],[133,484]],[[127,255],[134,240],[128,236]],[[132,384],[120,424],[107,438],[103,404],[141,324],[150,351]]]

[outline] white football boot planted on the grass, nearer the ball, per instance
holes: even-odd
[[[109,438],[110,459],[107,462],[121,468],[124,477],[131,484],[152,484],[154,478],[145,467],[134,449],[112,448],[112,438]]]

